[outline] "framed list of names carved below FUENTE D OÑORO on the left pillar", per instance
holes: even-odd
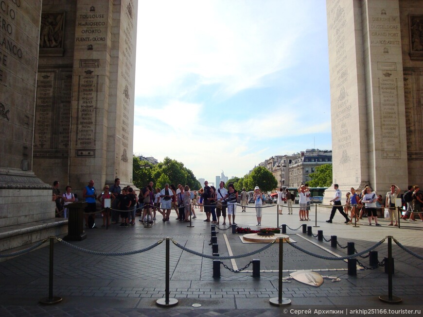
[[[76,149],[94,149],[98,76],[79,76],[78,92]]]

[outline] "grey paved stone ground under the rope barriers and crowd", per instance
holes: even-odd
[[[240,210],[240,208],[239,208]],[[367,220],[360,227],[345,225],[343,218],[335,216],[328,224],[329,209],[319,207],[317,211],[318,228],[329,239],[336,235],[338,248],[331,248],[330,242],[317,241],[317,237],[302,234],[297,229],[302,221],[297,215],[279,216],[279,225],[287,224],[287,234],[295,244],[303,249],[334,257],[346,255],[347,242],[354,242],[360,252],[373,246],[388,235],[394,236],[405,247],[423,255],[421,248],[423,223],[403,222],[402,228],[388,227],[381,220],[382,227],[370,227]],[[315,225],[315,213],[310,213]],[[128,228],[112,225],[91,229],[87,239],[71,242],[72,245],[87,250],[103,252],[126,252],[142,250],[169,236],[184,247],[199,253],[212,255],[210,242],[210,223],[203,222],[204,213],[197,211],[193,228],[187,223],[175,220],[163,223],[157,221],[152,228],[144,228],[141,223]],[[97,219],[101,223],[101,219]],[[236,222],[240,227],[255,229],[255,211],[238,211]],[[264,209],[263,226],[277,225],[276,207]],[[228,223],[228,222],[227,222]],[[220,225],[220,229],[225,229]],[[238,235],[231,230],[219,230],[218,244],[221,256],[229,255],[224,235],[229,241],[233,254],[243,254],[262,248],[263,244],[243,244]],[[47,243],[45,244],[47,245]],[[165,297],[165,243],[156,248],[134,255],[103,256],[92,255],[55,243],[53,296],[63,298],[55,305],[42,305],[38,301],[49,295],[49,248],[40,248],[30,253],[11,258],[0,263],[0,316],[297,316],[292,309],[346,309],[346,308],[405,308],[422,309],[423,261],[400,249],[393,243],[395,274],[393,295],[403,302],[399,305],[386,304],[378,299],[388,295],[388,274],[384,268],[373,270],[358,269],[356,276],[347,274],[347,263],[319,259],[284,244],[283,277],[298,269],[315,269],[322,275],[337,276],[340,282],[325,280],[320,287],[308,286],[295,280],[283,283],[283,297],[292,300],[291,305],[276,307],[269,303],[277,298],[278,290],[278,245],[246,258],[235,260],[242,268],[253,258],[263,263],[261,277],[253,278],[251,267],[243,272],[231,272],[221,266],[221,278],[212,278],[212,260],[189,253],[170,244],[170,297],[178,304],[172,308],[161,308],[156,300]],[[379,261],[387,256],[387,242],[377,247]],[[368,266],[368,259],[358,258]],[[222,261],[232,267],[230,260]],[[201,307],[193,307],[201,304]],[[287,313],[284,309],[288,309]],[[345,314],[326,314],[337,316]],[[354,314],[348,314],[354,316]],[[388,315],[389,314],[384,314]],[[300,315],[298,315],[300,316]],[[307,316],[310,316],[308,314]],[[316,315],[317,316],[317,315]],[[361,316],[360,314],[356,316]],[[392,316],[398,316],[393,314]]]

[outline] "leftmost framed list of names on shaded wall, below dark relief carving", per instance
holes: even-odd
[[[54,79],[53,71],[37,74],[34,150],[52,148]]]

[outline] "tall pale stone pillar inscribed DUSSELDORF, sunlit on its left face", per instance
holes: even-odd
[[[406,188],[398,1],[327,0],[334,184]],[[395,168],[393,168],[395,167]],[[332,198],[327,191],[325,201]]]

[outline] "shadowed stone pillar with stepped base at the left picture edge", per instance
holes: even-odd
[[[52,188],[32,171],[40,17],[40,0],[0,3],[1,250],[46,237],[54,221]]]

